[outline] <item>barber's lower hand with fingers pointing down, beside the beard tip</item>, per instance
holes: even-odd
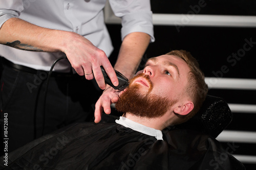
[[[107,85],[106,89],[103,91],[102,95],[100,96],[97,103],[95,104],[95,111],[94,111],[95,123],[100,122],[103,110],[106,114],[111,113],[111,104],[116,103],[119,99],[120,94],[122,93],[123,91],[118,92],[113,87]]]

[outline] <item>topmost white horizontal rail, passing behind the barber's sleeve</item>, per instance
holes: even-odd
[[[153,24],[163,26],[201,26],[201,27],[256,27],[256,16],[242,15],[202,15],[197,11],[188,11],[187,14],[153,14]],[[113,14],[106,3],[104,8],[106,23],[121,23],[121,19]]]

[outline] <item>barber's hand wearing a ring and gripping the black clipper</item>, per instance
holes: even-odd
[[[94,77],[99,88],[105,89],[105,81],[100,69],[102,65],[111,82],[115,86],[118,85],[115,70],[102,50],[79,34],[71,33],[68,37],[72,37],[70,38],[72,40],[64,47],[63,52],[78,75],[84,75],[87,80],[92,80]]]

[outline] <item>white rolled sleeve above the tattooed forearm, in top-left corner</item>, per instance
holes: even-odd
[[[0,28],[8,19],[18,17],[23,10],[22,0],[2,0],[0,2]]]

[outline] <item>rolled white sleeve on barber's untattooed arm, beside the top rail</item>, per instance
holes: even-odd
[[[110,0],[114,14],[122,19],[121,37],[143,32],[155,41],[150,0]]]

